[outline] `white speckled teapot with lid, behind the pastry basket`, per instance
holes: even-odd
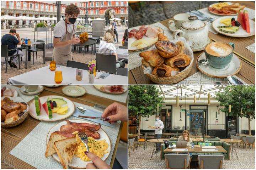
[[[187,21],[181,23],[181,29],[172,33],[172,37],[176,39],[177,34],[180,33],[180,36],[188,41],[191,49],[196,50],[207,45],[208,32],[206,21],[201,21],[196,16],[190,16]]]

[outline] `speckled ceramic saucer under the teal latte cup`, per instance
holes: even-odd
[[[235,54],[233,54],[233,58],[229,65],[222,69],[214,68],[209,64],[207,64],[206,66],[199,66],[198,61],[203,59],[206,59],[204,52],[197,57],[197,68],[199,69],[200,72],[210,77],[226,78],[229,75],[231,76],[238,73],[242,67],[240,59]]]

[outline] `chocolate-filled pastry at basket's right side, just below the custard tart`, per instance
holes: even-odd
[[[170,67],[185,67],[190,64],[190,58],[186,54],[179,54],[175,57],[168,58],[166,64]]]

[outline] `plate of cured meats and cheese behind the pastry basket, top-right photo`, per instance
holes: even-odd
[[[137,26],[128,30],[129,52],[148,49],[158,40],[158,34],[164,34],[164,30],[157,26]]]

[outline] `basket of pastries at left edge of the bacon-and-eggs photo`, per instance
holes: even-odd
[[[1,127],[21,124],[28,115],[28,105],[21,97],[1,97]]]

